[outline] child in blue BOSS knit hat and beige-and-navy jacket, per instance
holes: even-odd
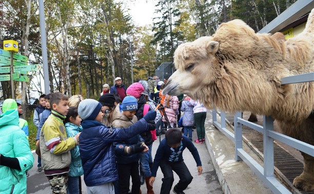
[[[114,128],[123,128],[133,125],[138,121],[135,116],[136,110],[138,110],[138,101],[134,96],[126,96],[113,112],[112,126]],[[119,175],[119,186],[115,187],[115,192],[119,188],[119,193],[128,193],[131,177],[131,193],[140,193],[139,160],[141,152],[148,151],[144,139],[140,134],[136,134],[127,140],[115,142],[114,146]]]

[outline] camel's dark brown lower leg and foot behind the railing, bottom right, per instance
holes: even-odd
[[[293,180],[293,186],[305,191],[314,190],[314,157],[301,153],[304,158],[304,170]]]

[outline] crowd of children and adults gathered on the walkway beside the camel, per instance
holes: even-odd
[[[121,80],[117,81],[116,86],[123,88]],[[164,173],[161,193],[171,190],[172,170],[180,178],[173,191],[184,193],[193,177],[183,162],[182,151],[185,148],[191,151],[201,174],[200,157],[192,143],[192,126],[197,126],[198,139],[195,143],[203,143],[206,108],[186,95],[180,101],[177,96],[163,96],[164,87],[164,82],[153,75],[149,83],[142,80],[129,86],[123,98],[109,92],[107,84],[99,101],[84,100],[82,95],[73,95],[68,99],[61,92],[41,95],[33,115],[33,123],[37,127],[37,171],[44,171],[52,192],[82,193],[81,176],[84,174],[87,193],[142,193],[140,187],[145,183],[147,193],[152,194],[152,185],[160,166]],[[159,103],[165,107],[164,114],[156,108]],[[21,105],[12,99],[5,101],[0,127],[9,115],[15,115],[14,109],[22,114],[22,108],[18,107]],[[180,111],[184,112],[181,120],[177,117]],[[13,120],[18,121],[15,116]],[[178,125],[184,127],[184,135],[181,130],[173,128],[178,120]],[[165,125],[164,122],[168,121],[170,123]],[[27,141],[27,122],[19,119],[18,124],[25,133],[19,132],[16,138],[23,139],[24,136]],[[16,124],[9,122],[5,125]],[[166,136],[153,160],[151,150],[156,140],[156,129],[163,129],[164,126],[167,126]],[[9,176],[20,174],[23,183],[27,170],[33,165],[33,156],[27,146],[24,159],[17,155],[4,156],[5,153],[0,150],[0,165],[7,166],[6,170],[19,170]],[[12,182],[0,191],[10,189],[10,185],[26,189],[26,183]]]

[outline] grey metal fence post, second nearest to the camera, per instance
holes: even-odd
[[[234,114],[234,159],[236,161],[242,160],[238,155],[238,149],[242,149],[242,124],[238,123],[238,117],[242,117],[242,112],[236,112]]]

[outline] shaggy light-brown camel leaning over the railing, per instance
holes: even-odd
[[[181,44],[163,94],[185,93],[209,109],[270,115],[284,134],[314,145],[314,82],[281,85],[282,77],[314,71],[313,14],[287,41],[282,33],[255,33],[233,20],[212,36]],[[293,185],[314,190],[314,157],[302,156],[304,170]]]

